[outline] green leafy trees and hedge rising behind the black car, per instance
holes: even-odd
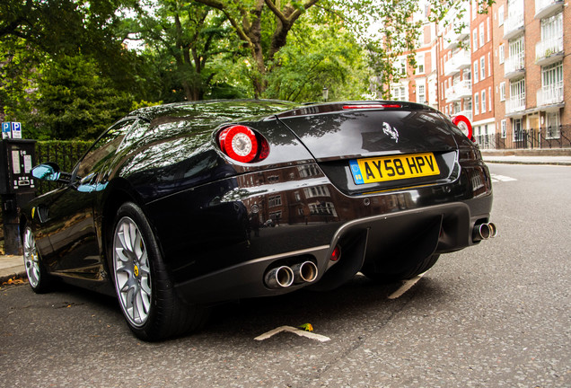
[[[468,4],[428,3],[433,21]],[[4,0],[0,118],[22,121],[25,137],[92,139],[159,101],[321,101],[323,87],[353,100],[371,84],[386,97],[395,58],[408,52],[414,67],[418,11],[418,0]]]

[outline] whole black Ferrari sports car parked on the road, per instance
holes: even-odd
[[[31,288],[117,295],[136,336],[160,340],[223,301],[415,277],[496,235],[488,168],[453,122],[404,101],[133,111],[72,172],[33,169],[61,185],[22,209]]]

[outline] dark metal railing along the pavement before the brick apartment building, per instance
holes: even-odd
[[[479,135],[480,149],[549,149],[571,147],[571,126],[559,126],[548,136],[545,129],[522,129],[513,134]]]

